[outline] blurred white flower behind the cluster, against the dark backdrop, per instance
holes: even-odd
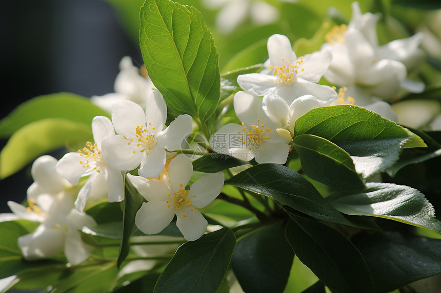
[[[133,65],[129,56],[123,57],[119,62],[119,73],[115,78],[115,93],[104,96],[93,96],[90,98],[92,103],[98,107],[111,112],[114,102],[129,100],[141,105],[146,104],[147,95],[154,87],[150,78],[140,74],[140,69]]]

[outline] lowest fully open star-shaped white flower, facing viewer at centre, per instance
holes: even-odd
[[[169,166],[170,183],[128,174],[133,186],[144,196],[136,213],[135,224],[146,234],[161,232],[176,215],[176,226],[188,241],[201,237],[207,229],[207,220],[197,211],[213,201],[224,186],[224,174],[208,174],[186,186],[192,176],[193,165],[184,155],[177,155]]]

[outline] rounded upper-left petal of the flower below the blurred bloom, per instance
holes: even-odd
[[[136,126],[146,125],[146,115],[141,106],[132,101],[119,101],[112,107],[112,122],[122,136],[136,137]]]

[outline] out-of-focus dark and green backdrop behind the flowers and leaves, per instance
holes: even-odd
[[[143,0],[45,0],[0,2],[3,103],[0,118],[35,96],[71,92],[84,97],[113,92],[118,63],[130,56],[143,64],[138,44],[139,8]],[[287,35],[297,55],[318,50],[324,28],[347,23],[352,0],[324,5],[322,0],[183,0],[204,16],[220,54],[221,73],[265,61],[266,41]],[[441,14],[439,4],[367,0],[362,12],[382,13],[381,43],[425,32],[428,53],[419,78],[439,84]],[[326,27],[326,28],[328,28]],[[309,39],[309,40],[308,40]],[[239,52],[239,53],[238,53]],[[6,91],[5,91],[6,90]],[[439,95],[435,97],[439,99]],[[426,124],[428,121],[425,122]],[[423,125],[424,128],[424,125]],[[7,139],[0,139],[3,148]],[[52,153],[59,159],[61,152]],[[0,212],[7,200],[21,201],[32,183],[30,166],[0,181]]]

